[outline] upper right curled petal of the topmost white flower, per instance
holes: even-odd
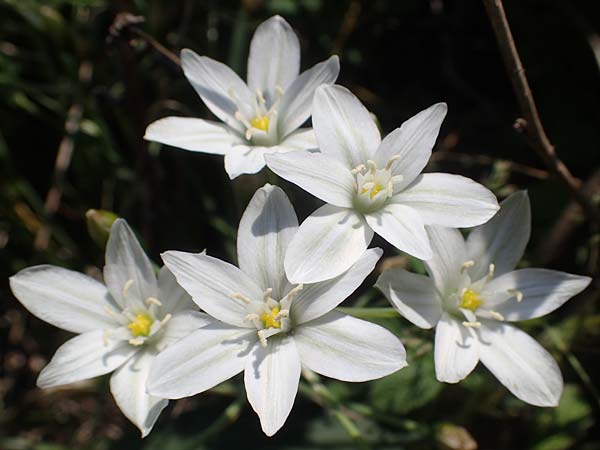
[[[279,136],[287,136],[310,117],[315,90],[322,84],[333,83],[340,72],[337,55],[303,72],[285,91],[279,114]]]

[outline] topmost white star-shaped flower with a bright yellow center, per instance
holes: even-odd
[[[225,64],[191,50],[181,52],[185,76],[206,107],[224,124],[167,117],[146,130],[145,138],[174,147],[225,155],[231,179],[256,173],[268,153],[316,147],[310,117],[317,86],[333,83],[337,56],[300,72],[300,44],[290,25],[274,16],[262,23],[250,44],[248,84]]]

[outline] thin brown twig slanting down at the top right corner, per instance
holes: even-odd
[[[515,122],[515,128],[522,131],[528,138],[532,148],[542,159],[546,167],[560,179],[569,189],[573,198],[581,205],[590,220],[600,223],[600,211],[582,190],[578,181],[567,166],[560,160],[554,146],[548,139],[537,107],[525,76],[525,69],[521,63],[519,52],[510,31],[510,26],[504,12],[502,0],[483,0],[487,14],[492,23],[504,65],[513,84],[513,89],[519,101],[522,119]]]

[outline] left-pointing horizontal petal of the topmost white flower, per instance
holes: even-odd
[[[201,153],[224,155],[242,139],[225,125],[189,117],[165,117],[146,128],[144,139]]]

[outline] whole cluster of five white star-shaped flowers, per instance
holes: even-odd
[[[514,270],[530,234],[529,199],[498,205],[475,181],[422,173],[447,107],[435,104],[383,137],[369,111],[333,85],[336,56],[300,73],[298,38],[281,17],[258,27],[247,84],[190,50],[185,76],[222,123],[167,117],[145,138],[222,154],[231,178],[265,165],[325,204],[300,225],[279,187],[258,189],[238,228],[236,267],[167,251],[156,269],[127,223],[112,225],[105,285],[54,266],[10,278],[32,314],[78,333],[38,378],[42,388],[112,372],[123,413],[147,435],[168,399],[243,372],[265,434],[285,423],[303,371],[349,382],[407,365],[387,329],[336,311],[375,268],[378,234],[425,262],[429,276],[392,268],[376,286],[421,328],[436,327],[435,369],[456,383],[481,362],[515,396],[556,405],[562,377],[534,339],[508,322],[543,316],[590,278]],[[312,128],[300,128],[312,116]],[[468,238],[458,228],[475,227]]]

